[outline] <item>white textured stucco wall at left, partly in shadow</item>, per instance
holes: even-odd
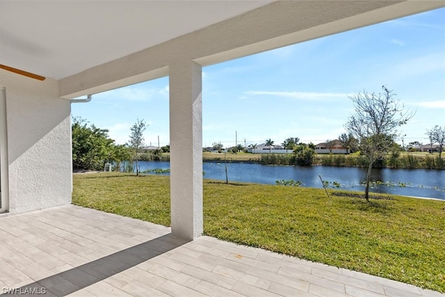
[[[70,102],[58,82],[1,71],[8,120],[9,212],[71,203]]]

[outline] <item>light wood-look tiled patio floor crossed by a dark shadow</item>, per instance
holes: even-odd
[[[44,296],[444,296],[67,205],[0,218],[0,287]],[[44,289],[42,289],[44,288]]]

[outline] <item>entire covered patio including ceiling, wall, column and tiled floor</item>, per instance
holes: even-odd
[[[0,1],[0,64],[44,79],[0,70],[2,293],[439,296],[202,236],[201,93],[206,65],[444,6],[443,0]],[[71,205],[70,104],[165,76],[171,229]]]

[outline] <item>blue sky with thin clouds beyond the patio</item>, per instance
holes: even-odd
[[[305,143],[338,138],[360,91],[394,90],[415,111],[401,127],[405,145],[427,144],[445,126],[445,8],[203,67],[203,146],[221,142]],[[169,141],[168,77],[93,95],[72,115],[126,143],[136,119],[145,143]],[[401,140],[398,141],[401,143]]]

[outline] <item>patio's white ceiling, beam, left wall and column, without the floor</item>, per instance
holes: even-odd
[[[197,239],[202,67],[443,6],[443,0],[1,1],[0,212],[71,203],[70,106],[90,97],[76,98],[94,100],[96,93],[168,76],[172,234]]]

